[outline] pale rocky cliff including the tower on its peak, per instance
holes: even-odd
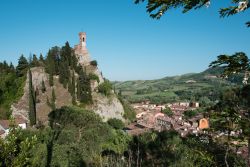
[[[98,86],[104,82],[102,73],[97,67],[97,64],[91,65],[90,55],[86,49],[86,33],[79,33],[80,44],[76,45],[74,48],[74,54],[78,60],[78,65],[82,66],[82,69],[87,74],[94,74],[99,78],[99,80],[91,80],[91,93],[93,98],[93,104],[86,106],[87,109],[94,111],[99,114],[104,121],[110,118],[118,118],[124,121],[124,108],[121,102],[118,100],[114,92],[110,93],[110,96],[104,96],[98,92]],[[72,71],[71,71],[72,72]],[[48,114],[51,108],[48,101],[51,99],[52,90],[54,89],[56,95],[56,108],[62,106],[72,105],[72,96],[69,91],[63,87],[59,82],[59,77],[54,76],[54,86],[49,86],[49,75],[45,72],[44,67],[34,67],[31,69],[33,87],[37,91],[36,99],[36,115],[37,121],[43,124],[48,122]],[[76,78],[78,77],[75,74]],[[42,81],[45,83],[46,91],[42,93]],[[80,104],[79,102],[77,104]],[[27,80],[24,87],[24,94],[22,98],[15,104],[11,106],[12,114],[22,116],[28,120],[29,116],[29,77],[27,74]]]

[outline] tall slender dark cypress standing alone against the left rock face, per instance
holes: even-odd
[[[32,74],[29,69],[29,119],[30,125],[36,124],[36,94],[32,84]]]

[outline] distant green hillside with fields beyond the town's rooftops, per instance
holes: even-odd
[[[165,77],[156,80],[135,80],[113,82],[116,91],[130,102],[151,100],[155,103],[167,103],[180,100],[216,101],[219,92],[233,83],[220,78],[222,68],[207,69],[201,73]],[[208,100],[207,100],[208,101]]]

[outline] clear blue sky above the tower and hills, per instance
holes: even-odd
[[[0,61],[17,63],[21,54],[47,54],[50,47],[78,43],[87,47],[110,80],[156,79],[201,72],[219,54],[250,55],[250,12],[220,18],[210,8],[166,13],[154,20],[145,4],[133,0],[1,0]],[[215,3],[215,2],[214,2]]]

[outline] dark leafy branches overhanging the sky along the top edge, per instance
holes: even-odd
[[[182,12],[186,13],[192,9],[199,9],[201,7],[209,7],[212,0],[134,0],[136,4],[147,2],[147,12],[150,17],[160,19],[163,14],[170,9],[182,8]],[[221,17],[231,16],[239,12],[249,9],[250,4],[248,0],[230,0],[232,6],[221,8],[219,13]],[[229,1],[229,2],[230,2]],[[215,1],[213,1],[215,2]],[[250,22],[246,25],[249,27]]]

